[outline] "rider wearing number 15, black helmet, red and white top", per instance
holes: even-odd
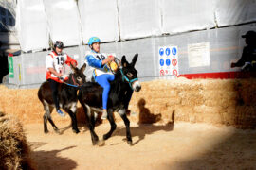
[[[72,59],[67,54],[63,53],[64,43],[61,41],[54,42],[53,51],[46,56],[46,80],[50,84],[53,102],[57,112],[61,116],[65,116],[64,112],[60,109],[58,98],[58,84],[63,83],[68,77],[65,76],[64,64],[74,67],[78,65],[75,59]]]

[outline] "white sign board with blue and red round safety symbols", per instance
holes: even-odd
[[[177,46],[158,47],[159,76],[178,76],[178,50]]]

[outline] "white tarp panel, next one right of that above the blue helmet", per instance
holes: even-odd
[[[136,39],[161,35],[157,0],[118,0],[120,38]]]

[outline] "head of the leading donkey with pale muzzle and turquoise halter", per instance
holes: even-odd
[[[135,69],[137,56],[138,56],[138,54],[136,54],[134,56],[131,63],[129,63],[126,60],[125,56],[123,56],[121,58],[122,69],[120,70],[124,81],[128,82],[130,87],[136,92],[140,91],[140,89],[141,89],[141,85],[137,79],[137,70]]]

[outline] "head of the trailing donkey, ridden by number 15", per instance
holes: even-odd
[[[77,84],[79,86],[82,86],[82,84],[85,82],[85,78],[86,78],[86,76],[83,74],[83,71],[86,68],[86,64],[84,63],[82,65],[81,69],[74,67],[72,64],[70,64],[70,67],[73,71],[73,74],[71,76],[73,83]]]

